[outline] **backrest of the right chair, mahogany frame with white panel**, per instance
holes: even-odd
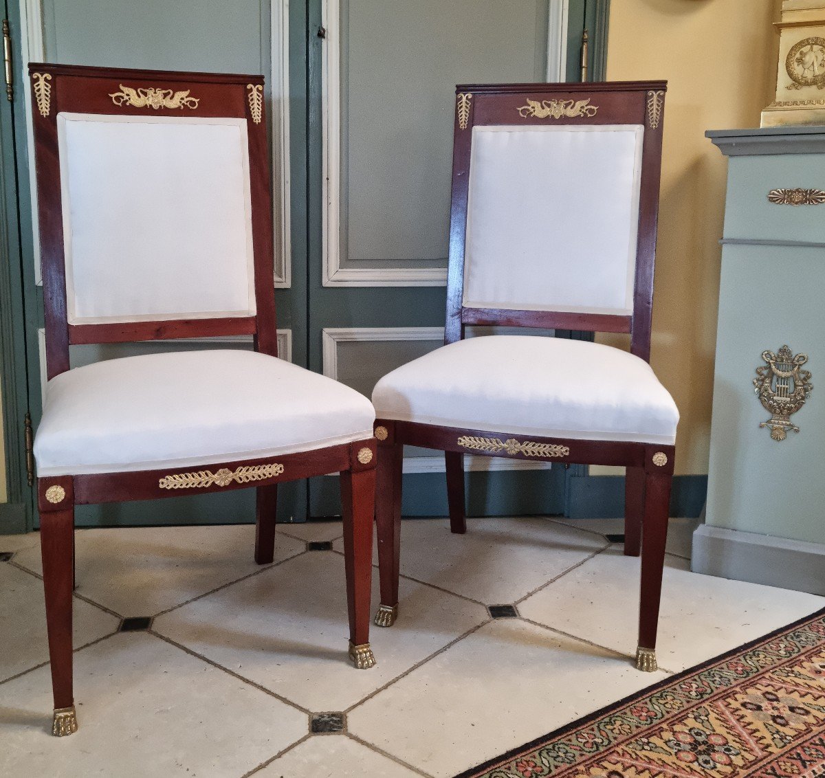
[[[649,359],[664,82],[456,87],[446,341],[629,332]]]

